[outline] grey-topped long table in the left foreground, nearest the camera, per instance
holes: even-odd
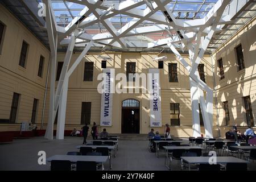
[[[108,156],[88,156],[88,155],[53,155],[46,159],[47,162],[52,160],[69,160],[72,163],[77,161],[101,163],[101,169],[104,170],[104,163],[108,160]]]

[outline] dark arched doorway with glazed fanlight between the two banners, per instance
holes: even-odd
[[[122,133],[139,133],[139,101],[122,101]]]

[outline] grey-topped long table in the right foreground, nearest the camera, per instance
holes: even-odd
[[[191,164],[209,164],[213,157],[181,157],[181,164],[183,161],[188,163],[188,170],[190,171]],[[231,156],[216,156],[216,164],[226,164],[226,163],[249,163],[246,160]]]

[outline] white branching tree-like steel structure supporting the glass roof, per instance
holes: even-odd
[[[199,137],[201,135],[199,121],[200,103],[205,126],[205,137],[213,137],[213,90],[200,79],[197,67],[209,46],[210,40],[214,36],[219,36],[216,33],[223,31],[222,28],[225,28],[227,23],[234,22],[234,17],[241,13],[241,10],[245,9],[253,0],[218,0],[216,3],[213,3],[207,15],[200,19],[177,19],[178,17],[175,18],[172,14],[174,8],[172,11],[170,10],[171,3],[175,5],[177,3],[198,3],[192,1],[122,0],[120,3],[103,0],[68,1],[85,7],[77,17],[73,18],[68,26],[60,27],[56,23],[51,0],[43,0],[43,3],[46,5],[44,7],[46,9],[46,28],[51,49],[51,89],[46,138],[53,138],[53,122],[59,107],[56,138],[63,139],[69,76],[71,76],[77,65],[79,65],[90,47],[94,46],[101,46],[102,48],[110,46],[117,49],[147,49],[158,46],[170,48],[189,73],[193,136]],[[198,11],[205,3],[206,1],[201,3]],[[141,6],[145,6],[145,8],[139,8]],[[119,14],[130,16],[131,20],[117,29],[110,19]],[[154,24],[151,26],[140,26],[145,21],[153,22]],[[94,24],[101,24],[106,28],[106,31],[100,32],[100,34],[89,34],[86,32],[86,27],[93,26]],[[145,34],[149,35],[159,32],[168,32],[170,37],[152,40],[148,36],[145,36]],[[68,39],[66,38],[67,36],[69,36]],[[55,91],[58,45],[68,45],[68,48]],[[69,65],[73,48],[76,46],[83,46],[85,48],[75,63]],[[181,51],[186,49],[189,52],[190,63],[187,63],[183,56],[180,55],[180,52],[177,51],[178,48]]]

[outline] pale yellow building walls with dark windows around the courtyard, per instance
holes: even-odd
[[[0,22],[5,26],[5,34],[1,43],[0,55],[0,131],[20,130],[21,122],[31,122],[33,113],[34,99],[38,100],[36,107],[35,123],[39,127],[46,129],[49,112],[49,49],[45,47],[22,23],[19,22],[8,10],[0,5]],[[250,96],[253,115],[256,114],[255,106],[255,81],[254,65],[256,63],[255,51],[255,26],[254,21],[248,24],[238,35],[234,35],[230,42],[221,46],[212,55],[205,55],[201,61],[204,64],[205,81],[216,90],[214,93],[214,115],[213,115],[213,135],[225,137],[225,132],[231,129],[234,123],[242,126],[245,130],[247,126],[246,114],[243,106],[242,97]],[[28,44],[26,55],[26,64],[24,67],[19,65],[22,44]],[[239,44],[242,44],[245,61],[245,69],[237,71],[236,51]],[[101,80],[97,77],[102,73],[100,53],[88,52],[81,63],[69,78],[67,110],[65,119],[65,130],[71,130],[73,127],[80,129],[84,123],[81,123],[82,102],[90,102],[90,119],[86,121],[100,125],[101,117],[101,94],[97,91],[97,86]],[[107,68],[114,68],[115,75],[127,72],[127,63],[135,63],[136,73],[148,73],[149,68],[158,68],[158,62],[152,61],[158,55],[156,52],[105,52],[111,57],[107,61]],[[74,52],[71,64],[80,55]],[[171,125],[171,134],[175,137],[192,136],[192,110],[191,96],[189,87],[189,76],[183,64],[172,53],[162,53],[158,56],[167,56],[163,62],[163,69],[160,72],[161,87],[161,107],[162,107],[162,125],[155,127],[155,131],[164,133],[164,125],[171,125],[171,104],[179,104],[179,125]],[[38,76],[40,57],[44,57],[42,76]],[[189,63],[188,55],[183,54]],[[65,53],[57,55],[57,62],[63,62]],[[218,60],[222,58],[224,63],[225,78],[219,80]],[[85,63],[93,63],[92,81],[84,81]],[[168,64],[177,64],[177,82],[170,82]],[[58,64],[58,63],[57,63]],[[56,64],[56,73],[57,73]],[[214,73],[214,74],[213,74]],[[48,82],[47,82],[48,78]],[[117,84],[118,81],[116,81]],[[57,81],[55,83],[57,86]],[[133,86],[127,89],[134,88]],[[14,93],[19,94],[18,107],[15,108],[15,122],[10,123],[11,107],[13,105]],[[113,94],[113,112],[112,126],[105,127],[109,133],[126,133],[123,126],[127,122],[124,113],[128,112],[123,108],[122,103],[126,100],[136,100],[139,105],[136,109],[136,131],[131,133],[147,134],[150,127],[150,101],[148,93],[114,93]],[[225,112],[223,102],[228,101],[230,122],[225,123]],[[132,109],[132,108],[131,108]],[[253,117],[254,118],[254,117]],[[134,124],[135,125],[135,124]],[[56,128],[56,125],[55,125]],[[99,126],[100,130],[103,127]],[[201,126],[201,133],[204,135],[204,127]]]

